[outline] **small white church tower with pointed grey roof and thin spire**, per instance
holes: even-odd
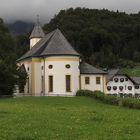
[[[42,27],[39,23],[39,16],[37,16],[37,23],[34,26],[34,29],[30,35],[30,49],[44,37],[44,32],[42,30]]]

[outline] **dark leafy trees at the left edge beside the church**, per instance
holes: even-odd
[[[12,95],[18,79],[23,81],[26,79],[23,72],[17,71],[16,66],[16,59],[25,52],[19,47],[23,47],[21,45],[23,43],[17,43],[21,42],[21,40],[24,40],[23,37],[15,41],[5,27],[3,20],[0,19],[0,96]]]

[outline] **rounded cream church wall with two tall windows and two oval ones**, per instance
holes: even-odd
[[[73,60],[71,60],[73,59]],[[65,66],[71,67],[67,69]],[[48,66],[53,65],[52,69]],[[45,60],[45,94],[46,95],[75,95],[79,89],[79,57],[49,57]],[[48,76],[53,76],[53,92],[48,92]],[[66,92],[65,76],[71,75],[71,92]]]

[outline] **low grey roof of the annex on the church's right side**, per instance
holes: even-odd
[[[107,74],[105,71],[97,69],[85,62],[82,62],[80,64],[80,73],[81,74]]]

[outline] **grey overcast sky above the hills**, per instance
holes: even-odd
[[[0,0],[0,17],[5,22],[14,20],[35,21],[36,15],[47,23],[61,9],[87,7],[117,9],[127,13],[140,11],[140,0]]]

